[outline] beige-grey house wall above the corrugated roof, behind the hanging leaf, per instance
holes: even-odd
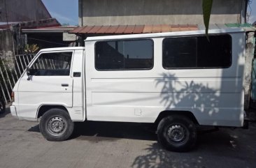
[[[80,26],[204,23],[201,0],[79,0],[79,6]],[[240,23],[242,6],[243,0],[214,0],[211,24]]]

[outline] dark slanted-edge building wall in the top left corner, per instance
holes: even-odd
[[[41,0],[0,0],[0,22],[22,22],[50,18]]]

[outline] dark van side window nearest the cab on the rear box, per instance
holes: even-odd
[[[143,70],[152,67],[152,40],[100,41],[95,45],[97,70]]]

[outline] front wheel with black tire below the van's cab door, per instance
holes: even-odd
[[[74,123],[64,109],[49,109],[43,114],[39,128],[45,139],[59,142],[72,135]]]

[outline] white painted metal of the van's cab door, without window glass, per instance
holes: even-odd
[[[73,50],[62,50],[62,52],[73,52]],[[48,52],[38,53],[29,66],[43,53]],[[19,118],[36,119],[38,109],[42,105],[73,107],[73,78],[71,73],[69,76],[32,75],[28,77],[24,72],[17,84],[16,96],[19,109],[17,116]],[[68,84],[68,86],[62,86],[62,84]]]

